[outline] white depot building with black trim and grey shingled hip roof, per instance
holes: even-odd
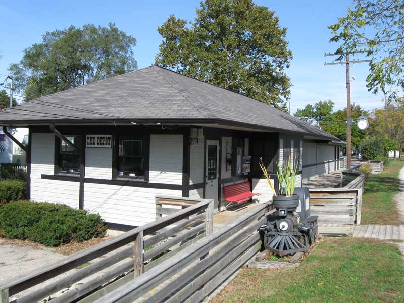
[[[154,221],[157,194],[212,198],[221,211],[223,186],[249,181],[268,201],[261,157],[275,187],[276,161],[290,158],[299,184],[338,169],[338,138],[158,66],[17,107],[0,125],[29,128],[30,198],[99,213],[112,227]]]

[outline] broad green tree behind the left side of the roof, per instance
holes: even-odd
[[[16,91],[29,100],[136,69],[134,46],[136,39],[112,23],[70,26],[46,32],[9,71]]]

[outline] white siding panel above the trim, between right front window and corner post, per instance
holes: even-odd
[[[183,135],[150,135],[149,182],[182,184]]]

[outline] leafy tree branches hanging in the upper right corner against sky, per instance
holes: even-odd
[[[354,9],[330,25],[336,53],[364,52],[370,59],[367,87],[377,93],[390,86],[404,88],[404,2],[354,0]]]

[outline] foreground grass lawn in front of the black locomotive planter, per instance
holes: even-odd
[[[403,277],[393,244],[324,238],[297,268],[243,268],[212,302],[403,302]]]

